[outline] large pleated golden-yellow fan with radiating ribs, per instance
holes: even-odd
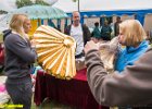
[[[75,39],[53,27],[41,25],[34,34],[38,62],[51,75],[69,80],[76,75]]]

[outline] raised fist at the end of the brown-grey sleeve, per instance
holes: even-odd
[[[92,49],[99,50],[99,45],[94,44],[92,40],[87,41],[87,44],[84,48],[85,53],[87,53],[88,51],[90,51]]]

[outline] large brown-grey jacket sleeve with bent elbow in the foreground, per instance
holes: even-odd
[[[152,104],[152,49],[119,74],[106,73],[98,50],[86,55],[87,78],[97,101],[104,106]]]

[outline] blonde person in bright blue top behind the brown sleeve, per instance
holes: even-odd
[[[116,60],[115,70],[119,73],[126,65],[132,65],[149,48],[145,32],[137,20],[126,20],[119,24],[118,41],[123,48]]]

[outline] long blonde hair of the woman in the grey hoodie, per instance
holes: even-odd
[[[28,20],[26,14],[14,14],[10,21],[10,28],[21,36],[25,35],[23,24],[26,20]]]

